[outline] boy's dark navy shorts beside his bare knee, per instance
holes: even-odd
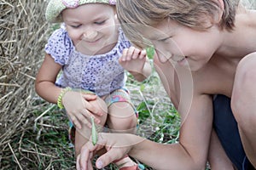
[[[213,100],[213,127],[230,160],[238,170],[253,170],[242,148],[237,123],[230,107],[230,98],[217,95]]]

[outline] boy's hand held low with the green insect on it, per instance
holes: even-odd
[[[135,135],[129,133],[99,133],[98,143],[93,145],[90,141],[83,145],[80,155],[77,157],[78,170],[92,170],[91,159],[99,150],[105,149],[107,153],[100,156],[96,161],[96,167],[101,169],[109,163],[119,160],[127,155],[136,144]]]

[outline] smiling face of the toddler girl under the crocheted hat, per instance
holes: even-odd
[[[61,17],[68,36],[82,54],[108,53],[118,40],[115,9],[101,3],[89,3],[78,8],[67,8]]]

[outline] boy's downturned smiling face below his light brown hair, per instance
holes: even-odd
[[[195,31],[173,20],[163,20],[154,31],[143,30],[143,35],[154,44],[160,62],[189,66],[191,71],[206,65],[221,42],[218,26],[208,31]]]

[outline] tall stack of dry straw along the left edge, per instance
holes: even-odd
[[[32,105],[34,80],[49,34],[44,8],[44,0],[0,0],[1,169],[22,169],[15,155],[20,152],[22,135],[32,126],[36,107]]]

